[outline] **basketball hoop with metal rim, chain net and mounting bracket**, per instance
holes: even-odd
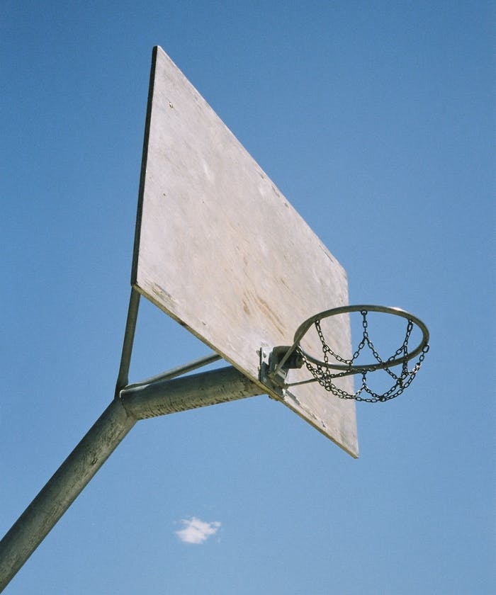
[[[345,357],[334,351],[327,344],[321,322],[324,319],[351,312],[359,312],[361,314],[362,338],[351,357]],[[393,316],[407,320],[405,338],[402,340],[402,344],[387,359],[381,357],[378,349],[368,336],[367,316],[369,312],[392,314]],[[322,358],[317,358],[315,355],[308,353],[301,346],[305,334],[308,333],[311,327],[315,327],[315,331],[317,331],[320,343],[322,344]],[[421,331],[422,338],[419,340],[419,344],[409,351],[409,341],[415,327]],[[363,356],[366,350],[370,351],[373,356],[374,361],[371,361],[371,363],[361,363],[359,361],[360,356]],[[295,332],[294,342],[291,347],[276,347],[272,351],[267,376],[272,382],[276,382],[276,384],[284,388],[306,384],[308,382],[318,382],[325,390],[332,392],[333,395],[336,395],[340,399],[355,399],[356,401],[373,403],[378,401],[383,402],[398,397],[410,386],[424,361],[427,351],[429,351],[429,331],[422,320],[413,316],[413,314],[399,308],[387,306],[343,306],[315,314],[300,324],[300,327]],[[409,363],[414,359],[416,361],[409,368]],[[313,378],[303,380],[303,382],[294,382],[293,384],[286,383],[288,369],[301,368],[303,365],[312,374]],[[377,370],[384,370],[393,382],[383,392],[372,390],[367,383],[367,374],[376,372]],[[337,385],[336,380],[352,374],[361,375],[361,386],[356,392],[347,392]],[[281,385],[281,380],[283,381],[283,385]]]

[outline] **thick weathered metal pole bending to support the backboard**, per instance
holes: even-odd
[[[128,387],[107,407],[0,541],[0,592],[139,419],[263,394],[229,366]]]

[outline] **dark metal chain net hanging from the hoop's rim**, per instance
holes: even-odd
[[[335,353],[329,345],[327,345],[325,341],[325,337],[322,334],[322,329],[320,328],[320,320],[315,321],[315,329],[317,334],[319,335],[319,339],[322,342],[322,353],[323,353],[323,363],[325,365],[319,365],[312,363],[308,360],[305,356],[305,353],[301,353],[303,357],[303,363],[306,365],[312,376],[317,380],[317,382],[325,388],[325,390],[332,392],[333,395],[336,395],[340,399],[355,399],[356,401],[363,401],[368,403],[376,403],[378,401],[384,402],[390,399],[394,399],[395,397],[399,397],[401,393],[410,386],[412,380],[414,380],[417,372],[424,361],[425,355],[427,351],[429,351],[429,345],[424,346],[422,352],[419,354],[419,358],[414,363],[412,368],[408,368],[408,341],[410,339],[410,335],[412,334],[413,329],[413,321],[408,319],[407,323],[407,331],[405,334],[405,339],[403,340],[401,346],[393,353],[390,358],[383,361],[381,356],[379,355],[376,347],[373,345],[371,339],[368,336],[368,322],[367,322],[367,310],[361,310],[362,315],[362,328],[363,328],[363,336],[359,343],[359,346],[356,348],[356,351],[353,353],[351,358],[346,359],[339,355],[339,353]],[[367,368],[360,368],[359,364],[356,364],[357,358],[359,358],[363,348],[368,347],[372,352],[374,358],[378,363],[377,368],[368,366]],[[350,366],[350,370],[342,370],[340,372],[332,371],[331,368],[327,368],[327,364],[329,363],[329,356],[334,358],[334,360],[338,361],[343,365]],[[394,360],[402,361],[402,363],[395,365],[394,368],[399,368],[396,372],[388,366],[388,362],[393,362]],[[351,369],[351,366],[354,368]],[[393,385],[386,390],[385,392],[378,393],[374,392],[371,387],[367,384],[367,373],[371,371],[376,371],[382,369],[387,373],[393,381]],[[356,392],[350,393],[346,390],[343,390],[339,386],[335,384],[335,380],[337,378],[342,378],[343,376],[347,376],[350,374],[357,374],[361,375],[361,386],[359,390]]]

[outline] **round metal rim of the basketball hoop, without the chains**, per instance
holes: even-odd
[[[331,310],[324,310],[324,312],[319,312],[318,314],[314,314],[305,322],[300,324],[298,329],[295,332],[294,344],[298,345],[298,349],[303,354],[303,356],[310,362],[314,363],[315,365],[320,365],[323,368],[331,368],[332,370],[344,370],[344,371],[354,371],[354,372],[370,372],[371,370],[381,370],[383,368],[391,368],[395,365],[400,365],[405,363],[405,358],[395,358],[393,360],[384,361],[383,363],[373,363],[368,365],[343,365],[343,364],[334,364],[334,363],[326,363],[320,359],[311,356],[310,353],[307,353],[303,350],[300,346],[300,341],[303,339],[305,334],[307,333],[308,329],[314,324],[317,320],[322,320],[323,318],[329,318],[331,316],[336,316],[337,314],[346,314],[348,312],[362,312],[366,310],[366,312],[383,312],[384,314],[393,314],[395,316],[399,316],[401,318],[405,318],[407,320],[411,320],[413,324],[415,324],[419,329],[422,331],[422,341],[420,341],[419,345],[410,353],[406,358],[406,361],[410,361],[412,358],[418,356],[429,344],[429,330],[425,326],[425,324],[414,316],[410,314],[410,312],[406,312],[405,310],[401,310],[401,308],[390,307],[390,306],[376,306],[376,305],[354,305],[354,306],[342,306],[337,308],[332,308]]]

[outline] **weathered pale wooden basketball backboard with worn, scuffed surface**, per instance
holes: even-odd
[[[259,379],[261,351],[291,345],[303,320],[348,303],[346,273],[160,47],[152,57],[132,283],[358,456],[353,401],[316,383],[281,391]],[[347,317],[333,339],[349,357]],[[292,382],[305,378],[305,370],[291,370]],[[351,377],[339,382],[351,390]]]

